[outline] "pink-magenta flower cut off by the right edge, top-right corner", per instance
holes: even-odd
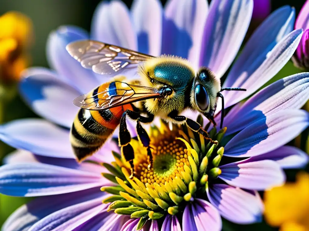
[[[300,28],[304,33],[292,61],[296,67],[306,69],[309,67],[309,1],[305,2],[296,19],[295,29]]]

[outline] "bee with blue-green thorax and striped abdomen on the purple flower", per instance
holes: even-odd
[[[137,74],[138,78],[133,80],[118,76],[74,99],[73,103],[81,109],[70,131],[74,154],[78,161],[82,161],[97,151],[119,125],[119,146],[131,166],[131,177],[134,174],[134,151],[129,144],[131,136],[126,126],[127,116],[137,121],[138,139],[147,149],[150,168],[150,139],[141,123],[150,123],[159,116],[172,123],[187,124],[190,129],[211,140],[200,124],[180,113],[189,108],[205,115],[216,125],[214,113],[218,98],[222,99],[222,107],[224,105],[220,92],[246,91],[221,88],[220,79],[209,68],[201,67],[196,73],[188,60],[176,56],[154,57],[92,40],[70,43],[66,50],[83,67],[95,73],[107,75],[130,70]],[[222,110],[221,127],[223,117]]]

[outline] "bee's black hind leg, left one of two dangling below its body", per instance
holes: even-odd
[[[126,120],[126,111],[121,116],[118,142],[119,146],[121,147],[121,155],[124,156],[126,161],[129,161],[129,164],[131,166],[131,175],[130,175],[131,179],[136,174],[136,172],[134,171],[134,164],[133,164],[134,150],[131,144],[129,144],[131,141],[131,135],[127,129],[127,124],[125,120]]]

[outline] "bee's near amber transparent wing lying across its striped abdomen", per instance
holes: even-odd
[[[115,82],[114,89],[98,92],[95,95],[80,95],[73,103],[87,110],[106,110],[112,107],[141,101],[144,99],[155,99],[162,97],[157,89],[132,85],[123,82]]]

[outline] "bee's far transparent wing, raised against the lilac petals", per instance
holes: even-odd
[[[151,55],[93,40],[70,43],[66,46],[66,50],[83,67],[101,75],[136,68],[139,63],[153,58]]]

